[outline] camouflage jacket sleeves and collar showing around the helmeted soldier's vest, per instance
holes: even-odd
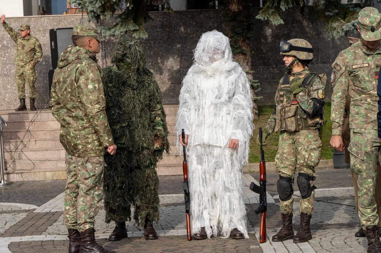
[[[289,79],[290,81],[294,79],[295,77],[304,77],[306,74],[310,73],[308,68],[305,68],[302,71],[296,72],[296,73],[290,73]],[[283,83],[284,76],[280,79],[277,92],[275,93],[275,108],[277,106],[282,105],[285,103],[282,101],[282,98],[280,98],[280,95],[282,93],[282,83]],[[316,77],[311,84],[311,89],[309,89],[309,94],[306,94],[303,90],[296,94],[296,96],[292,96],[293,99],[298,101],[299,107],[301,107],[305,112],[311,114],[314,102],[311,100],[311,98],[318,98],[318,99],[324,99],[324,88],[325,84],[322,83],[320,77]],[[273,114],[270,116],[270,119],[267,122],[266,128],[269,130],[270,133],[274,131],[275,128],[275,118],[276,118],[276,110],[274,109]]]

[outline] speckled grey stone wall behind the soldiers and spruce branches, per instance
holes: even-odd
[[[314,16],[312,9],[306,8],[304,16],[300,8],[291,8],[283,16],[285,24],[277,27],[267,21],[255,19],[259,9],[253,9],[253,19],[257,24],[252,42],[252,69],[255,79],[259,79],[261,90],[257,95],[263,96],[259,104],[272,104],[279,79],[285,67],[279,55],[280,40],[303,38],[314,47],[314,61],[309,66],[317,73],[327,73],[326,97],[330,100],[331,85],[329,77],[331,63],[336,55],[349,46],[346,37],[330,38],[324,32],[325,24]],[[290,15],[293,13],[293,15]],[[221,10],[175,11],[174,13],[152,12],[152,21],[145,25],[149,34],[147,40],[142,40],[146,50],[149,68],[155,74],[163,93],[165,104],[178,103],[178,95],[182,78],[192,65],[192,51],[203,32],[213,29],[226,33]],[[307,18],[308,17],[308,18]],[[48,70],[51,69],[49,29],[72,27],[81,21],[81,15],[52,15],[7,18],[6,22],[13,28],[21,24],[30,24],[31,33],[40,40],[43,48],[43,58],[36,66],[37,82],[36,103],[39,108],[48,102]],[[105,24],[110,21],[105,21]],[[87,16],[83,16],[83,24],[87,24]],[[92,24],[97,25],[97,24]],[[355,35],[356,36],[356,35]],[[18,106],[17,90],[14,84],[13,59],[16,46],[8,33],[0,27],[0,110],[14,109]],[[98,54],[99,64],[110,64],[115,38],[107,38],[102,43],[102,52]],[[27,91],[28,94],[28,91]],[[29,101],[27,100],[27,103]]]

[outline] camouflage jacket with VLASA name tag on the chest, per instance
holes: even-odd
[[[377,129],[377,82],[381,48],[370,51],[361,41],[341,51],[332,64],[332,135],[341,135],[346,97],[351,96],[350,128]]]

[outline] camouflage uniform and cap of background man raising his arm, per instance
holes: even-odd
[[[28,38],[22,38],[20,33],[13,30],[6,22],[3,27],[16,42],[17,51],[14,58],[16,65],[15,82],[17,85],[18,98],[25,98],[25,83],[29,87],[29,97],[36,98],[34,83],[36,82],[35,65],[41,60],[42,47],[37,38],[29,35]],[[30,29],[29,25],[21,25],[20,30]]]

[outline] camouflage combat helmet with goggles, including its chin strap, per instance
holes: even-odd
[[[291,68],[291,66],[298,61],[302,61],[302,64],[306,65],[314,58],[314,49],[312,48],[312,45],[303,39],[282,40],[280,41],[279,51],[281,55],[295,57],[295,60],[293,60],[287,68]]]

